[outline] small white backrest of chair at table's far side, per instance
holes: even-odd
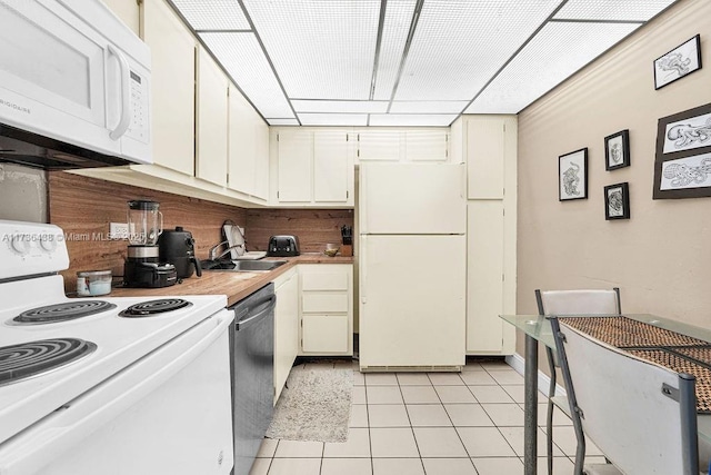
[[[620,314],[620,289],[535,290],[540,315]]]

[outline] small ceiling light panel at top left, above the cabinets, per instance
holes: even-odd
[[[249,30],[236,0],[171,0],[193,30]]]

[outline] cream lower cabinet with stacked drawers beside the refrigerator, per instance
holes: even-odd
[[[300,355],[353,354],[353,266],[301,264]]]

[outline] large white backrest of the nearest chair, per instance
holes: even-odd
[[[551,319],[585,434],[627,474],[699,473],[695,382]],[[569,380],[570,378],[570,380]]]

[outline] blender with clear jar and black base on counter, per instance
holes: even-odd
[[[160,261],[158,237],[163,231],[160,205],[133,200],[128,206],[129,248],[123,264],[123,285],[157,288],[176,284],[176,266]]]

